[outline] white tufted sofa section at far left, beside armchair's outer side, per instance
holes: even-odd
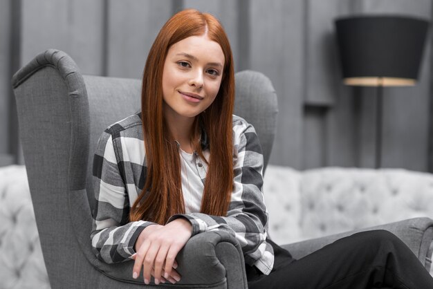
[[[24,166],[0,168],[0,288],[50,288]]]

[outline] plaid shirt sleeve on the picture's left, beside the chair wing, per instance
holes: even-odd
[[[98,259],[106,263],[119,263],[130,259],[135,253],[133,245],[140,232],[154,223],[129,222],[129,198],[125,178],[118,166],[122,159],[116,154],[112,136],[110,129],[102,133],[93,158],[95,206],[91,243]]]

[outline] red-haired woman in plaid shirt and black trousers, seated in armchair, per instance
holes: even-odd
[[[176,283],[176,255],[190,237],[223,230],[241,244],[250,288],[432,285],[414,254],[386,232],[357,234],[299,261],[267,239],[259,140],[232,115],[233,104],[232,52],[221,24],[196,10],[178,12],[147,57],[142,113],[111,125],[98,142],[91,238],[99,259],[133,259],[133,278],[142,270],[147,284],[151,277]],[[402,262],[411,268],[402,272]]]

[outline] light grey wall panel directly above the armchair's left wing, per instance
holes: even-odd
[[[71,55],[82,73],[102,73],[103,1],[23,0],[21,64],[48,48]]]

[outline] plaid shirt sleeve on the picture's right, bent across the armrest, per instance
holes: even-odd
[[[266,243],[268,212],[262,194],[263,154],[252,125],[234,125],[234,183],[227,216],[202,213],[176,214],[169,219],[187,218],[192,234],[229,232],[239,241],[246,263],[268,274],[273,267],[273,249]]]

